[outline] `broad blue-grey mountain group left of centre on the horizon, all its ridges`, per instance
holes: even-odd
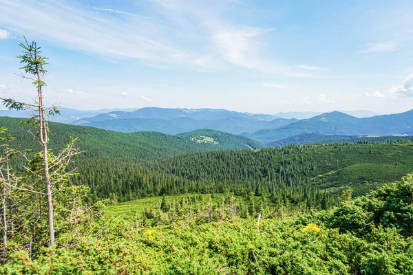
[[[297,119],[275,115],[241,113],[226,109],[164,109],[142,108],[136,111],[112,111],[82,118],[74,124],[131,133],[157,131],[177,134],[198,129],[213,129],[228,133],[253,133],[260,129],[277,129]]]

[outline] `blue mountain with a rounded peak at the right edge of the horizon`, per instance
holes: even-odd
[[[334,111],[317,115],[314,118],[299,120],[279,129],[265,129],[246,136],[270,143],[303,133],[356,136],[411,135],[413,133],[413,110],[393,115],[377,115],[371,118],[355,118]]]

